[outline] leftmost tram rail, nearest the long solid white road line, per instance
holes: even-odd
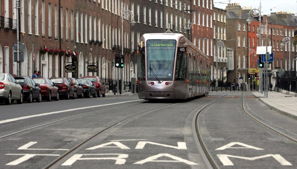
[[[27,129],[19,130],[19,131],[10,133],[10,134],[6,134],[4,136],[0,136],[0,139],[6,138],[6,137],[9,137],[9,136],[13,136],[15,134],[22,133],[22,132],[25,132],[25,131],[28,131],[28,130],[32,130],[32,129],[36,129],[36,128],[39,128],[39,127],[43,127],[43,126],[46,126],[46,125],[51,125],[51,124],[58,123],[58,122],[61,122],[61,121],[69,120],[69,119],[73,119],[73,118],[77,118],[77,117],[83,117],[83,116],[88,116],[88,115],[91,115],[91,114],[103,113],[103,112],[107,112],[107,111],[115,110],[115,109],[120,109],[120,108],[127,108],[127,107],[136,106],[136,105],[140,105],[140,104],[145,104],[145,103],[132,104],[132,105],[127,105],[127,106],[120,106],[120,107],[109,108],[109,109],[100,110],[100,111],[93,111],[93,112],[89,112],[89,113],[86,113],[86,114],[80,114],[80,115],[76,115],[76,116],[71,116],[71,117],[60,119],[60,120],[51,121],[49,123],[45,123],[45,124],[33,126],[33,127],[30,127],[30,128],[27,128]]]

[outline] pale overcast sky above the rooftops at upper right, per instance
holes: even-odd
[[[225,9],[228,3],[229,1],[226,0],[213,0],[214,6],[221,9]],[[258,8],[260,6],[260,0],[230,0],[230,3],[239,3],[241,7],[252,6],[253,8]],[[297,12],[296,0],[261,0],[261,6],[262,12],[265,15],[270,15],[270,12],[278,11],[293,12],[296,15]]]

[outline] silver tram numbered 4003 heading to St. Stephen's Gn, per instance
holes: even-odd
[[[209,93],[209,57],[182,34],[144,34],[137,57],[140,99],[188,99]]]

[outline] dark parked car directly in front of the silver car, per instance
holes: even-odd
[[[28,103],[32,103],[33,100],[41,102],[39,84],[36,84],[32,78],[27,76],[15,76],[14,78],[23,88],[23,100],[27,100]]]

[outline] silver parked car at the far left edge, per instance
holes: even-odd
[[[8,73],[0,73],[0,103],[11,104],[17,100],[18,104],[23,103],[23,90],[13,76]]]

